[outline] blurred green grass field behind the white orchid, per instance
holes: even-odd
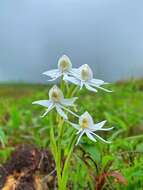
[[[41,119],[43,108],[32,105],[48,98],[48,89],[46,85],[0,85],[0,163],[18,144],[48,148],[49,118]],[[110,89],[112,93],[79,94],[79,112],[88,110],[94,121],[106,119],[114,129],[103,133],[111,144],[84,137],[75,148],[69,177],[74,190],[94,189],[97,183],[107,190],[143,189],[143,81],[117,82]]]

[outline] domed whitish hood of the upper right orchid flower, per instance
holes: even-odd
[[[83,81],[89,81],[93,78],[93,72],[92,69],[89,67],[89,65],[84,64],[80,67],[80,77]]]

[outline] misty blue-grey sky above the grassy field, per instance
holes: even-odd
[[[0,81],[44,82],[62,54],[109,82],[142,77],[143,1],[0,1]]]

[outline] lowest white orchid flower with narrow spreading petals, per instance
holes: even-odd
[[[113,127],[111,128],[102,128],[104,126],[104,124],[106,123],[106,121],[102,121],[100,123],[94,124],[93,119],[91,117],[91,115],[88,112],[85,112],[83,115],[81,115],[79,117],[79,124],[75,124],[72,122],[67,121],[69,124],[71,124],[72,127],[74,127],[75,129],[78,130],[77,134],[79,135],[78,140],[76,145],[79,143],[81,137],[86,134],[87,137],[96,142],[96,138],[100,139],[101,141],[105,142],[105,143],[111,143],[108,142],[106,140],[104,140],[102,137],[100,137],[99,135],[97,135],[95,132],[96,131],[110,131],[113,129]],[[94,138],[95,136],[95,138]]]

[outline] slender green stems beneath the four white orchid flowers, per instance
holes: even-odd
[[[73,97],[78,88],[75,87],[74,89],[70,89],[68,84],[66,85],[66,92],[68,97]],[[64,82],[61,81],[60,83],[60,88],[62,91],[64,91]],[[53,118],[51,118],[53,119]],[[58,190],[66,190],[67,182],[68,182],[68,168],[69,168],[69,163],[70,163],[70,158],[74,149],[74,144],[75,144],[75,133],[72,134],[71,140],[69,143],[69,146],[67,147],[67,158],[64,162],[63,168],[62,168],[62,139],[63,139],[63,131],[64,131],[64,120],[60,117],[58,118],[58,136],[55,139],[54,135],[54,128],[51,126],[51,131],[50,131],[50,140],[51,140],[51,149],[53,152],[54,160],[55,160],[55,165],[56,165],[56,172],[57,172],[57,183],[58,183]]]

